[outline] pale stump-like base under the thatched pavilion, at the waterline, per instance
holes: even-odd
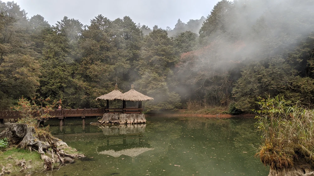
[[[102,123],[119,123],[119,124],[132,124],[132,123],[145,123],[145,115],[142,113],[104,113],[102,118],[98,120]]]

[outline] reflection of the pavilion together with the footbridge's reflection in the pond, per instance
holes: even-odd
[[[96,152],[99,154],[110,155],[116,159],[121,155],[130,156],[132,162],[134,158],[146,151],[154,148],[150,143],[143,140],[146,124],[120,124],[120,125],[101,125],[99,128],[102,133],[74,133],[59,134],[55,137],[65,142],[70,141],[99,141],[103,145],[97,146]],[[106,142],[101,142],[105,140]]]

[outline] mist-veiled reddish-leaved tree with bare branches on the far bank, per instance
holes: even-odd
[[[239,69],[238,53],[242,47],[240,42],[216,40],[199,50],[183,53],[176,65],[179,80],[192,85],[210,104],[229,104],[233,74]]]

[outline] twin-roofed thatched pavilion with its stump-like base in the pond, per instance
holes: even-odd
[[[134,90],[134,85],[131,85],[131,90],[126,93],[121,93],[116,85],[114,91],[97,97],[96,99],[107,100],[106,113],[103,118],[99,120],[100,123],[145,123],[146,119],[142,114],[142,101],[154,100],[154,98],[148,97]],[[122,100],[122,108],[109,108],[109,100]],[[126,102],[130,101],[136,103],[134,107],[127,107]]]

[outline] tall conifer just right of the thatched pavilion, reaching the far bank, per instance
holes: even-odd
[[[173,44],[167,31],[154,26],[144,38],[143,50],[138,61],[141,78],[136,82],[143,93],[154,97],[145,103],[147,110],[174,109],[180,105],[180,97],[171,88],[176,81],[172,68],[177,63]]]

